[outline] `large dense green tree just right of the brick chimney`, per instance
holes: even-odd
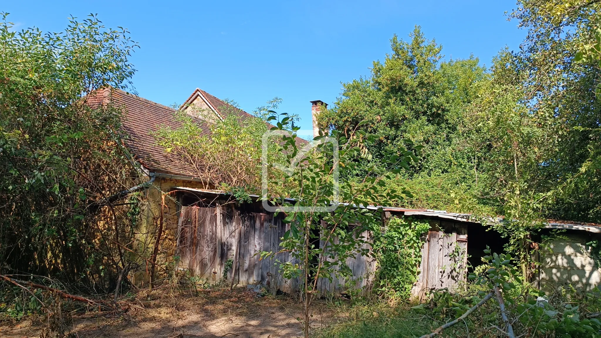
[[[466,107],[475,99],[474,85],[487,78],[477,58],[442,61],[442,47],[427,40],[416,26],[410,41],[391,39],[391,53],[374,61],[371,75],[343,84],[343,93],[331,109],[319,114],[322,128],[350,132],[360,121],[361,131],[373,135],[365,140],[371,158],[354,164],[349,175],[361,177],[371,165],[391,154],[415,153],[407,167],[387,185],[409,189],[403,206],[441,204],[444,191],[456,191],[457,198],[443,198],[439,209],[467,212],[477,206],[477,150],[467,144],[460,126]],[[457,203],[455,203],[457,201]],[[378,203],[377,201],[373,201]],[[478,208],[491,209],[487,206]]]

